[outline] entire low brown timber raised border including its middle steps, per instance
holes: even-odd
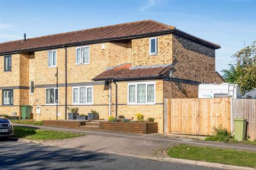
[[[128,132],[149,134],[157,133],[157,123],[154,122],[108,122],[104,120],[79,121],[79,120],[46,120],[43,121],[44,126],[52,126],[59,128],[75,128],[85,130],[106,130],[115,132]]]

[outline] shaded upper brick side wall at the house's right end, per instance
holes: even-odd
[[[173,40],[173,77],[214,83],[215,50],[177,35]]]

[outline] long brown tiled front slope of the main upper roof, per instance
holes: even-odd
[[[29,38],[26,41],[17,40],[0,43],[0,54],[29,49],[47,48],[64,44],[107,40],[126,36],[137,36],[158,31],[172,30],[175,27],[153,20],[129,22],[109,25],[106,27],[91,28],[73,32],[58,33],[55,35]]]

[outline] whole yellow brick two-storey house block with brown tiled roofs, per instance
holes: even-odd
[[[215,72],[220,46],[153,20],[0,44],[0,114],[33,106],[35,120],[65,119],[67,106],[154,117],[163,132],[164,98],[196,98]],[[36,111],[36,106],[39,110]]]

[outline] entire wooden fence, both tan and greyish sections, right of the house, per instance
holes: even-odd
[[[164,132],[208,135],[222,125],[233,132],[234,118],[247,118],[248,134],[255,139],[256,100],[183,98],[164,100]]]

